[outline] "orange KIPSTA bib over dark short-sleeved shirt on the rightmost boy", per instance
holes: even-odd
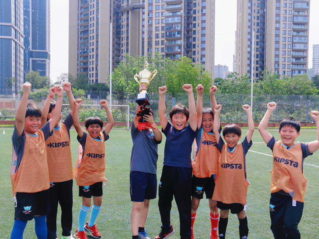
[[[307,180],[303,175],[303,162],[305,157],[312,155],[308,143],[296,143],[287,148],[281,140],[272,137],[267,147],[273,154],[270,191],[304,202]]]

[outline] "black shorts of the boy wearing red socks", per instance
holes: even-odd
[[[213,197],[213,192],[215,188],[214,177],[192,177],[192,196],[198,199],[202,199],[204,192],[206,198],[211,199]]]

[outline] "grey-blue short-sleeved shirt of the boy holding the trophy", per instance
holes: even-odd
[[[140,171],[156,174],[157,170],[157,145],[161,141],[156,141],[152,129],[138,130],[134,122],[131,127],[133,141],[130,171]]]

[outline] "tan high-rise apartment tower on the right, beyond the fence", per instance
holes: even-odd
[[[236,71],[253,72],[255,79],[264,67],[281,76],[307,73],[309,5],[310,0],[238,0]]]

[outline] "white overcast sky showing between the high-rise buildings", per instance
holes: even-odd
[[[233,70],[235,50],[237,0],[215,0],[215,65],[227,65]],[[310,1],[309,60],[312,67],[312,45],[319,44],[319,1]],[[69,1],[51,0],[51,67],[52,82],[68,72]],[[74,42],[76,44],[76,42]]]

